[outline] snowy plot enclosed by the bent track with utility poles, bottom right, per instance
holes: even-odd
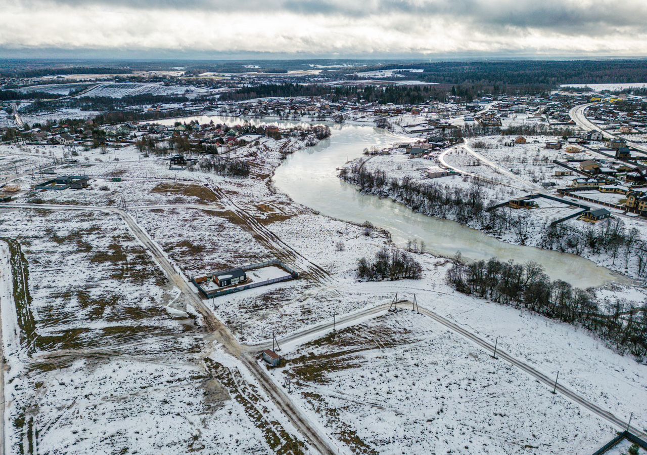
[[[563,454],[597,449],[615,428],[410,310],[289,354],[277,382],[355,453]],[[568,429],[564,423],[568,422]]]

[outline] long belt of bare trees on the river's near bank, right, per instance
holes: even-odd
[[[636,307],[619,300],[602,305],[589,290],[551,281],[536,262],[492,258],[464,264],[457,257],[446,279],[459,292],[582,325],[621,351],[647,355],[647,305]]]

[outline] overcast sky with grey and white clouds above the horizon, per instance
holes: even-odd
[[[0,57],[647,56],[646,0],[0,0]]]

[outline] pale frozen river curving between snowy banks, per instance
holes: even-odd
[[[210,119],[227,124],[243,122],[241,118],[195,118],[201,122]],[[252,124],[298,124],[258,119],[250,121]],[[392,200],[360,193],[355,186],[337,177],[336,168],[344,165],[347,159],[362,156],[366,147],[391,145],[402,141],[402,137],[373,126],[335,125],[331,129],[333,134],[329,139],[288,156],[276,170],[276,189],[288,194],[294,202],[340,220],[356,223],[370,221],[375,226],[387,229],[395,244],[400,246],[410,239],[424,240],[428,250],[444,257],[452,257],[461,251],[464,258],[472,260],[496,257],[501,261],[535,261],[543,266],[552,279],[562,279],[578,287],[628,281],[580,256],[501,242],[463,224],[421,215]]]

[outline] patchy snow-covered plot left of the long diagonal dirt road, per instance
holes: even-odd
[[[302,453],[117,216],[5,209],[0,224],[19,239],[30,290],[16,346],[0,281],[12,453]]]

